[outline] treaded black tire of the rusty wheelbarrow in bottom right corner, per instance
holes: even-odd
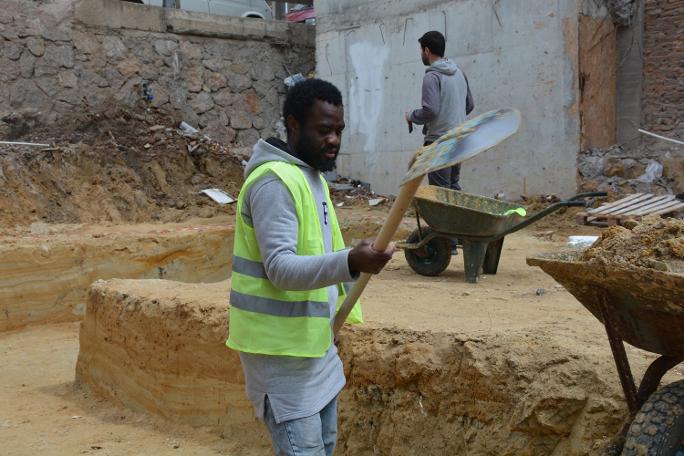
[[[622,456],[684,454],[684,380],[653,393],[629,427]]]

